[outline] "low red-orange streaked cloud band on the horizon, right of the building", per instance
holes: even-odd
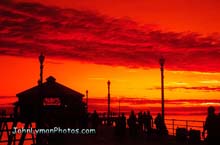
[[[216,109],[220,109],[219,100],[165,100],[166,115],[206,115],[207,107],[212,105]],[[118,99],[111,98],[111,110],[118,112],[119,102]],[[107,99],[106,98],[90,98],[89,109],[94,109],[99,112],[106,112]],[[121,98],[120,99],[121,112],[127,114],[130,110],[138,111],[150,110],[152,114],[156,115],[161,111],[161,100],[147,99],[147,98]],[[192,111],[193,110],[193,111]]]

